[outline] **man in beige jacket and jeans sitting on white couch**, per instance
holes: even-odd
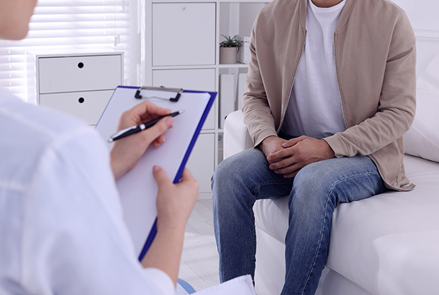
[[[274,0],[257,17],[243,96],[255,149],[212,178],[220,279],[254,276],[257,199],[290,195],[281,294],[314,294],[341,202],[411,190],[415,37],[388,0]]]

